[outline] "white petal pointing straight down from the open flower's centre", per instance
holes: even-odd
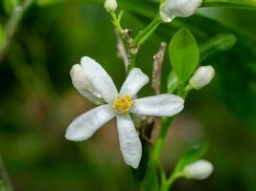
[[[129,115],[117,116],[120,148],[128,165],[138,168],[142,156],[140,138]]]

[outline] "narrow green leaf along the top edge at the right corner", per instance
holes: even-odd
[[[255,0],[204,0],[202,7],[221,7],[256,10]]]

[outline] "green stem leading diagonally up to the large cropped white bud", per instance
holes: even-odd
[[[132,41],[133,47],[138,47],[142,45],[148,38],[151,36],[151,34],[157,29],[157,27],[161,24],[160,15],[156,14],[154,19],[151,21],[151,23],[141,32],[138,32],[138,34],[135,36],[135,38]]]

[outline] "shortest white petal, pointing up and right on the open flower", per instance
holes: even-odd
[[[144,74],[140,69],[134,68],[129,72],[128,77],[121,88],[120,95],[135,96],[149,81],[150,79],[148,75]]]

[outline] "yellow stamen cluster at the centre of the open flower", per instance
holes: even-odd
[[[135,101],[130,96],[117,96],[113,102],[113,109],[121,114],[126,114],[133,105],[135,105]]]

